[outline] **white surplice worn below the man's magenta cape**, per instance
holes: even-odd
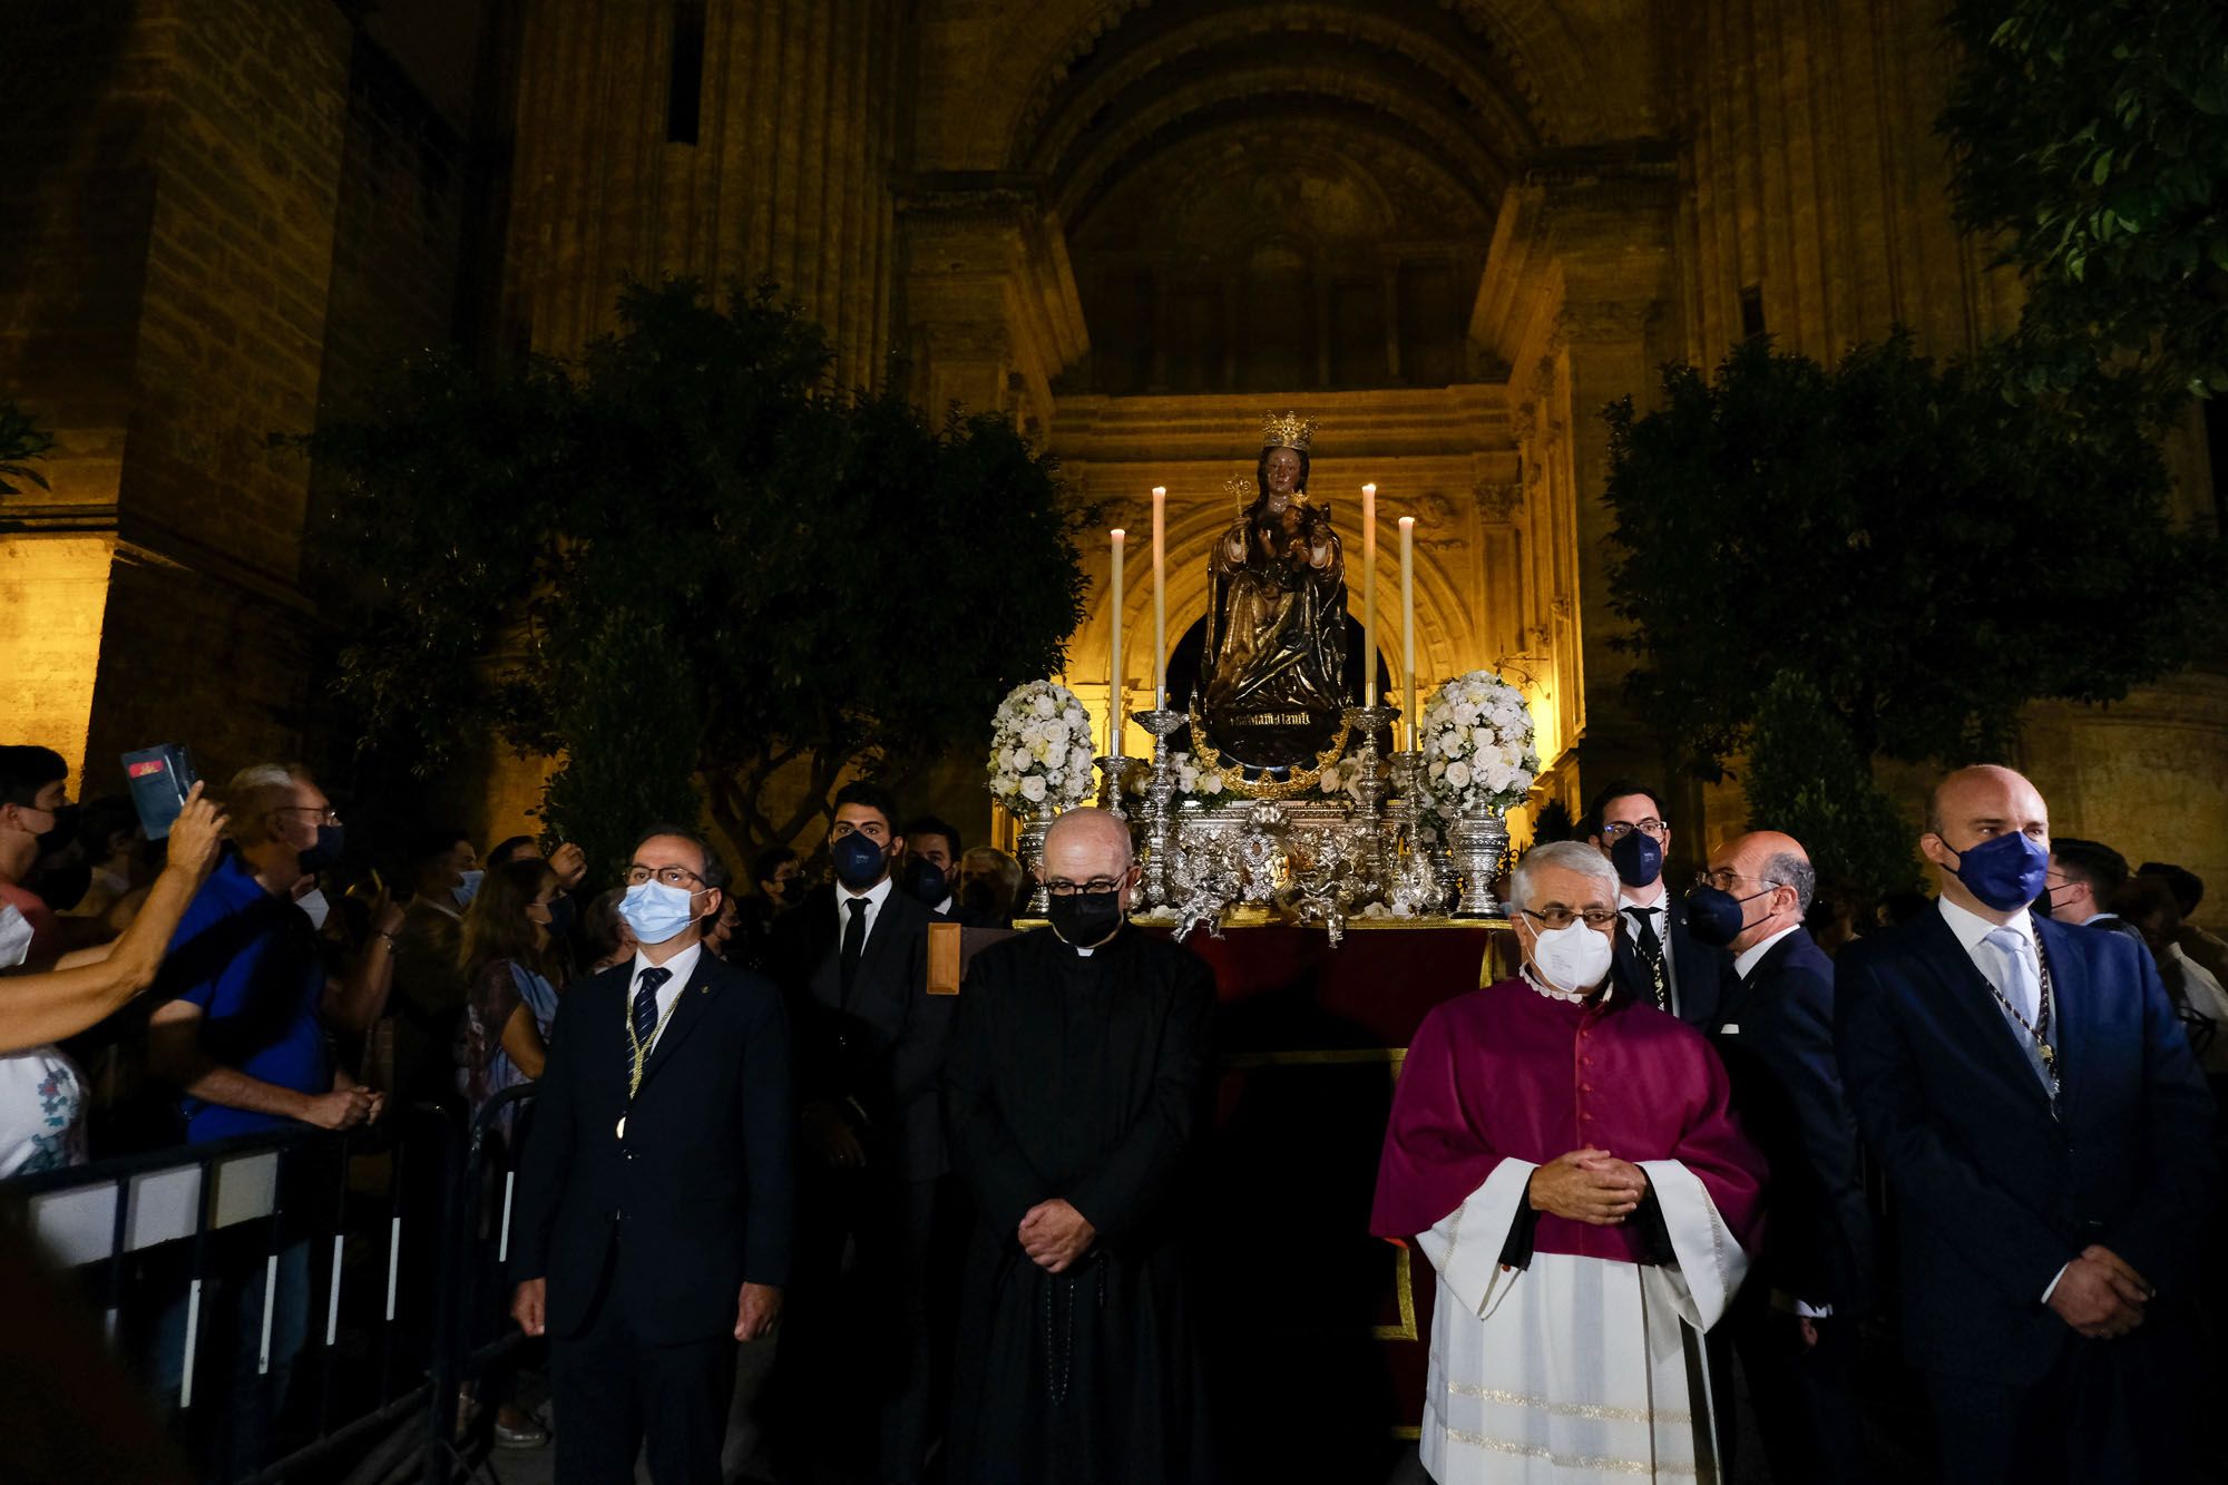
[[[1439,1271],[1421,1456],[1439,1485],[1718,1481],[1702,1331],[1749,1258],[1702,1182],[1640,1162],[1675,1266],[1502,1246],[1537,1166],[1504,1159],[1417,1242]]]

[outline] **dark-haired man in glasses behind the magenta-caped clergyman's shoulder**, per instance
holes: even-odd
[[[1687,930],[1687,905],[1664,890],[1671,823],[1662,798],[1642,783],[1620,778],[1593,796],[1586,821],[1622,883],[1611,961],[1618,990],[1709,1030],[1733,963],[1722,948],[1696,941]]]

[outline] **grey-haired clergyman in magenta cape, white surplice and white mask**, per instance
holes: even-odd
[[[1522,977],[1424,1017],[1377,1171],[1370,1231],[1439,1271],[1424,1467],[1716,1478],[1700,1338],[1747,1271],[1765,1164],[1702,1035],[1611,983],[1611,863],[1540,845],[1511,899]]]

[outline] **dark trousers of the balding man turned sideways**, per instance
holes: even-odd
[[[1740,1376],[1765,1436],[1776,1485],[1856,1485],[1865,1478],[1865,1420],[1856,1407],[1856,1320],[1816,1320],[1802,1345],[1794,1316],[1736,1302],[1727,1316]]]

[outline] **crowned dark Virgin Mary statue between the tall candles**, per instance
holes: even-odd
[[[1261,424],[1254,502],[1214,544],[1214,627],[1201,656],[1201,702],[1214,734],[1286,734],[1292,747],[1239,747],[1248,763],[1312,756],[1312,738],[1346,702],[1346,553],[1330,504],[1308,499],[1315,419]],[[1288,756],[1270,756],[1288,754]]]

